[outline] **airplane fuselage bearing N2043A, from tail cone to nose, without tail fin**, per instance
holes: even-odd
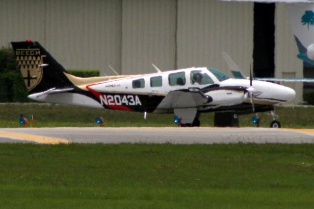
[[[201,79],[198,78],[199,74]],[[250,102],[249,93],[244,91],[250,87],[250,80],[232,79],[214,69],[188,68],[113,79],[104,77],[104,81],[99,82],[100,80],[98,78],[97,82],[77,85],[81,90],[92,93],[94,99],[84,94],[72,93],[75,94],[71,99],[72,102],[75,105],[129,111],[146,111],[151,108],[156,113],[191,107],[204,111],[209,108]],[[294,90],[266,81],[254,80],[252,87],[259,92],[253,94],[255,104],[274,105],[292,100],[295,96]],[[189,91],[202,93],[199,97],[195,96],[196,94],[176,93],[169,98],[169,93]],[[38,101],[52,102],[53,100],[58,101],[55,103],[71,104],[68,100],[69,94],[71,93],[36,93],[29,97]],[[212,100],[205,101],[207,97],[211,97]],[[154,99],[155,102],[150,101]],[[203,99],[205,100],[200,102]],[[149,105],[155,106],[149,107]]]

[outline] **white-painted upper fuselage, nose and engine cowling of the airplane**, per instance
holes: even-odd
[[[204,84],[193,83],[192,72],[201,71],[206,73],[211,79],[210,82]],[[184,74],[185,81],[183,85],[176,85],[171,83],[171,75]],[[204,74],[203,74],[204,75]],[[161,77],[161,86],[152,86],[151,79]],[[135,80],[143,80],[144,86],[142,88],[133,88],[132,82]],[[152,73],[145,75],[136,75],[128,78],[122,78],[117,80],[109,80],[90,86],[91,89],[100,93],[132,93],[132,94],[147,94],[152,95],[166,95],[171,91],[178,91],[189,88],[203,89],[211,84],[218,84],[220,87],[230,86],[242,86],[244,88],[250,87],[250,80],[248,79],[226,79],[219,81],[218,78],[210,72],[207,68],[188,68],[182,70],[171,70],[160,73]],[[260,95],[254,95],[256,104],[278,104],[294,99],[295,91],[285,86],[277,85],[266,81],[253,81],[252,83],[255,89],[258,89],[262,93]],[[249,101],[246,94],[242,92],[236,93],[230,90],[210,91],[205,93],[213,98],[210,105],[235,105],[243,101]]]

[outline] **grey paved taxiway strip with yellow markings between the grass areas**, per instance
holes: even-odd
[[[314,143],[313,129],[273,128],[10,128],[0,142],[30,143]]]

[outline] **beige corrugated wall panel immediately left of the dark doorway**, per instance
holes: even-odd
[[[228,72],[227,52],[247,75],[253,63],[253,3],[178,1],[178,67],[213,67]]]

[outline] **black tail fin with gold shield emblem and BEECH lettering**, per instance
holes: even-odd
[[[29,93],[74,87],[64,74],[67,71],[38,42],[27,40],[11,44]]]

